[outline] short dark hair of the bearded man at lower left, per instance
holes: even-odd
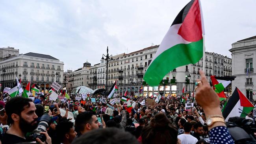
[[[30,103],[29,102],[33,102],[31,99],[28,98],[23,98],[23,97],[14,97],[11,98],[7,103],[6,103],[6,114],[8,116],[7,118],[7,123],[9,124],[13,124],[13,119],[11,118],[11,114],[18,114],[20,115],[20,113],[22,111],[24,111],[25,107],[30,107]]]

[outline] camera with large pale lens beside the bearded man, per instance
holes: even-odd
[[[44,114],[43,116],[41,116],[37,128],[27,138],[28,141],[33,142],[36,141],[36,138],[39,138],[42,142],[45,142],[46,136],[44,134],[41,134],[40,132],[45,132],[46,129],[49,127],[51,121],[52,119],[48,114]]]

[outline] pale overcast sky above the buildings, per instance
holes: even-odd
[[[64,70],[160,44],[189,0],[1,0],[0,47],[48,54]],[[255,0],[202,0],[206,51],[256,35]],[[128,49],[128,50],[127,50]]]

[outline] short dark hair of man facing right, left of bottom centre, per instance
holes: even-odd
[[[93,122],[92,116],[95,115],[92,112],[85,111],[76,116],[75,129],[77,132],[83,131],[86,124],[91,124]]]

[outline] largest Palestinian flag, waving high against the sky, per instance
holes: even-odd
[[[191,0],[178,13],[147,68],[144,80],[148,85],[159,85],[171,70],[179,66],[195,64],[202,58],[201,18],[199,0]]]

